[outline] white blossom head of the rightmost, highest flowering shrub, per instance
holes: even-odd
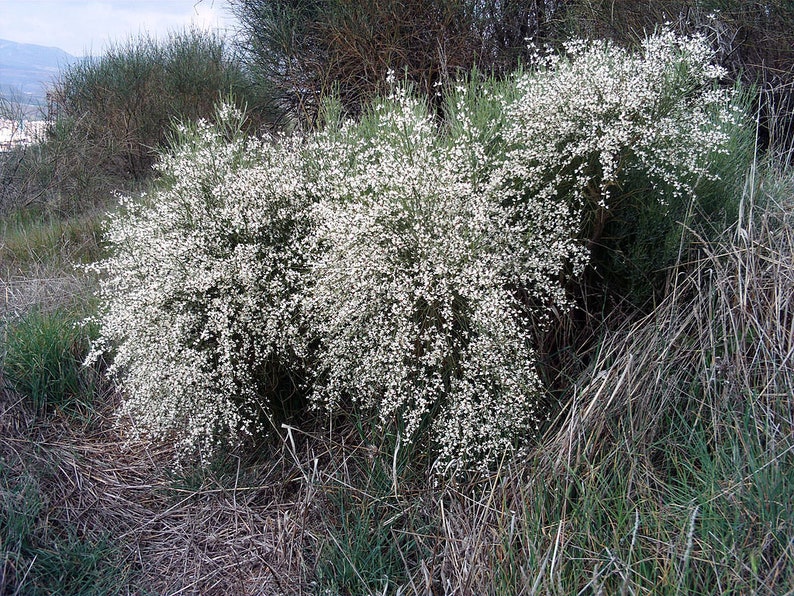
[[[577,41],[565,54],[537,55],[506,105],[503,175],[584,209],[608,209],[637,171],[660,200],[694,193],[741,117],[732,91],[716,86],[724,72],[712,57],[705,39],[669,31],[636,54]]]

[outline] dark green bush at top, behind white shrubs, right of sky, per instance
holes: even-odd
[[[346,110],[360,113],[386,91],[388,68],[404,70],[427,94],[468,72],[478,51],[488,51],[474,31],[473,4],[235,0],[232,6],[248,63],[272,91],[273,103],[286,116],[315,123],[332,94]]]

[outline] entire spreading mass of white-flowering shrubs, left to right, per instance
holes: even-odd
[[[209,446],[254,430],[301,359],[316,406],[491,466],[537,428],[529,329],[567,307],[594,214],[630,200],[627,176],[661,204],[713,177],[736,114],[709,57],[669,34],[641,55],[576,43],[461,86],[444,124],[392,82],[303,144],[185,131],[100,265],[124,412]]]

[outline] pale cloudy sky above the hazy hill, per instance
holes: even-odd
[[[100,55],[140,33],[162,38],[194,26],[231,35],[234,25],[228,0],[0,0],[0,39],[74,56]]]

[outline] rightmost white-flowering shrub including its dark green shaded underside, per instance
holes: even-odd
[[[694,226],[692,213],[718,222],[732,200],[720,173],[742,177],[752,159],[739,140],[749,138],[743,112],[717,86],[723,71],[711,57],[704,39],[670,32],[635,54],[572,42],[536,55],[505,104],[504,184],[580,211],[577,234],[619,300],[650,298],[663,281],[655,272],[678,255],[678,222]]]

